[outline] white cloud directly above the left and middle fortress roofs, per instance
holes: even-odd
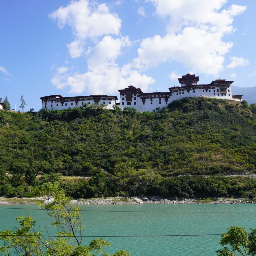
[[[129,64],[119,67],[116,63],[124,48],[131,44],[128,37],[114,39],[105,36],[90,50],[86,73],[58,73],[52,78],[52,84],[59,89],[69,86],[70,93],[82,93],[86,90],[89,94],[116,94],[118,89],[129,84],[147,90],[148,85],[155,82],[152,77],[141,75]]]

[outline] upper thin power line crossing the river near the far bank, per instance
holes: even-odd
[[[39,211],[67,211],[61,209],[36,209],[36,208],[18,208],[18,207],[0,207],[0,209],[13,209],[13,210],[39,210]],[[111,211],[111,210],[72,210],[80,212],[146,212],[146,213],[255,213],[255,212],[184,212],[184,211]]]

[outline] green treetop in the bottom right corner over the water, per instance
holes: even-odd
[[[221,235],[220,244],[228,245],[216,251],[218,256],[255,256],[256,255],[256,228],[251,228],[248,233],[245,228],[233,226],[228,232]],[[237,254],[238,253],[238,254]]]

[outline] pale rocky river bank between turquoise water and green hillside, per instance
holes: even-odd
[[[0,205],[17,205],[17,204],[36,204],[39,199],[44,202],[51,203],[52,198],[6,198],[0,197]],[[107,198],[89,198],[89,199],[73,199],[73,204],[255,204],[256,198],[164,198],[164,197],[107,197]]]

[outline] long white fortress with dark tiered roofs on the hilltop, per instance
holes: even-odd
[[[140,88],[132,85],[118,90],[120,93],[120,102],[116,103],[116,96],[108,95],[89,95],[76,97],[62,97],[61,95],[44,96],[42,108],[47,109],[67,109],[83,106],[87,103],[106,105],[106,108],[112,109],[114,105],[120,108],[132,107],[139,112],[153,111],[155,108],[166,107],[174,100],[180,100],[185,97],[208,97],[223,100],[241,101],[243,95],[232,95],[230,85],[233,81],[226,79],[217,79],[210,84],[197,84],[199,76],[186,74],[178,79],[180,86],[170,87],[169,92],[142,92]]]

